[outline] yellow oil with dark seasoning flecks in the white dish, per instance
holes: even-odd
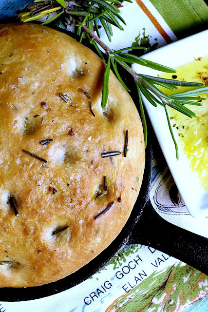
[[[165,74],[162,77],[208,85],[208,57],[194,59],[176,70],[175,74]],[[176,92],[186,89],[180,87]],[[167,89],[164,90],[167,93]],[[177,130],[178,142],[189,159],[190,167],[197,172],[202,185],[208,190],[208,94],[201,97],[206,98],[202,101],[202,106],[186,105],[197,115],[196,118],[184,116],[169,107],[168,109],[172,127]]]

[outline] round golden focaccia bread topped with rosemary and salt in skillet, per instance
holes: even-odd
[[[75,272],[109,246],[132,211],[143,130],[112,72],[101,108],[105,66],[56,30],[0,26],[0,287]]]

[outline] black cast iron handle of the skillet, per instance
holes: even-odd
[[[143,244],[173,256],[208,275],[208,238],[164,220],[147,201],[130,244]]]

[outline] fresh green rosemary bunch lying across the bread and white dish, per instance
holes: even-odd
[[[125,1],[132,2],[131,0]],[[205,87],[203,83],[185,82],[136,73],[130,67],[133,63],[166,73],[176,72],[170,67],[163,66],[125,52],[133,49],[146,50],[145,47],[131,46],[120,50],[110,49],[100,39],[101,36],[99,28],[103,27],[109,41],[111,41],[111,37],[113,36],[112,25],[123,30],[120,22],[124,25],[126,25],[126,23],[120,16],[119,9],[117,8],[117,6],[121,5],[121,2],[122,1],[120,0],[34,0],[34,4],[19,11],[18,16],[23,22],[39,20],[44,17],[45,20],[42,22],[42,25],[46,25],[50,22],[56,22],[61,23],[63,26],[74,26],[74,31],[79,36],[80,42],[83,37],[89,39],[89,41],[95,46],[98,55],[107,63],[103,76],[101,103],[103,109],[105,109],[108,101],[109,75],[111,67],[113,68],[118,80],[127,91],[130,91],[130,89],[122,80],[117,65],[122,66],[127,72],[129,72],[134,79],[138,93],[141,119],[144,129],[145,147],[147,144],[147,124],[141,94],[147,98],[153,106],[157,107],[157,105],[161,105],[164,107],[170,134],[175,144],[176,158],[178,159],[178,147],[171,129],[167,106],[170,106],[190,118],[196,117],[195,113],[184,106],[184,104],[202,105],[201,100],[204,100],[205,98],[196,96],[208,93],[208,87]],[[100,47],[105,51],[106,59],[104,59]],[[191,87],[191,89],[185,92],[177,92],[169,96],[160,90],[160,87],[163,87],[175,91],[178,86]],[[200,102],[198,102],[199,100]]]

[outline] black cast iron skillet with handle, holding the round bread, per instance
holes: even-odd
[[[73,33],[52,27],[76,39]],[[94,50],[88,42],[82,41],[82,43]],[[123,79],[126,84],[131,86],[131,96],[134,103],[136,103],[136,91],[132,88],[134,85],[132,78],[125,73]],[[152,130],[150,131],[150,124],[148,128],[149,137],[154,137]],[[154,137],[152,142],[155,140],[156,138]],[[158,144],[156,149],[158,152]],[[0,301],[34,300],[70,289],[99,271],[115,254],[131,244],[151,246],[184,261],[208,275],[208,239],[170,224],[160,217],[151,205],[149,191],[151,186],[152,158],[152,144],[149,139],[146,148],[144,178],[132,214],[121,233],[107,249],[77,272],[57,282],[29,288],[1,288]]]

